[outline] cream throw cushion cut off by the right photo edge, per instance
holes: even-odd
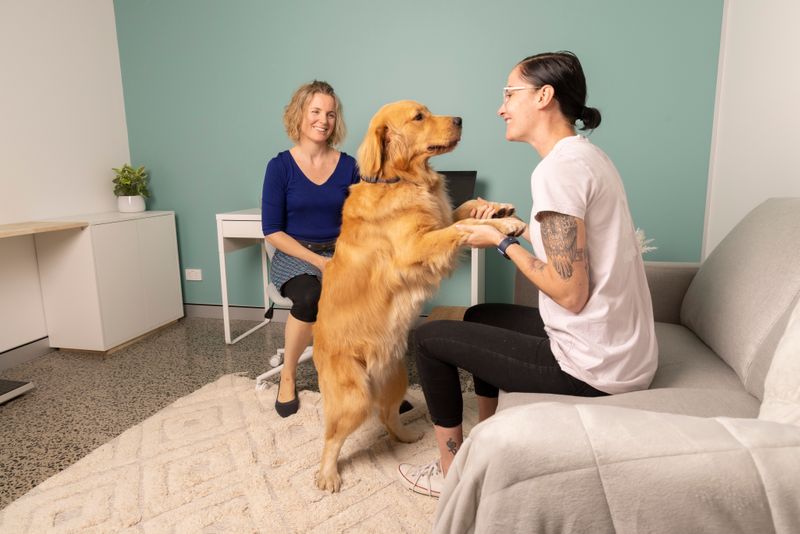
[[[772,358],[758,418],[800,426],[800,303]]]

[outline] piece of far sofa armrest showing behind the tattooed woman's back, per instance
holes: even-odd
[[[653,318],[656,321],[681,324],[683,297],[699,268],[699,263],[644,263],[650,298],[653,300]]]

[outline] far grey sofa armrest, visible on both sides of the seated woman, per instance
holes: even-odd
[[[680,324],[683,296],[699,268],[699,263],[644,263],[656,321]],[[514,304],[539,305],[539,290],[519,269],[516,269],[514,277]]]

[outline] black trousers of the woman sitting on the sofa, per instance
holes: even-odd
[[[463,321],[432,321],[416,331],[417,369],[435,425],[462,421],[458,369],[472,373],[475,393],[497,397],[503,391],[606,395],[558,366],[538,308],[516,304],[478,304]]]

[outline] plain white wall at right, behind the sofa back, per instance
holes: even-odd
[[[723,19],[704,258],[764,199],[800,196],[800,2],[726,0]]]

